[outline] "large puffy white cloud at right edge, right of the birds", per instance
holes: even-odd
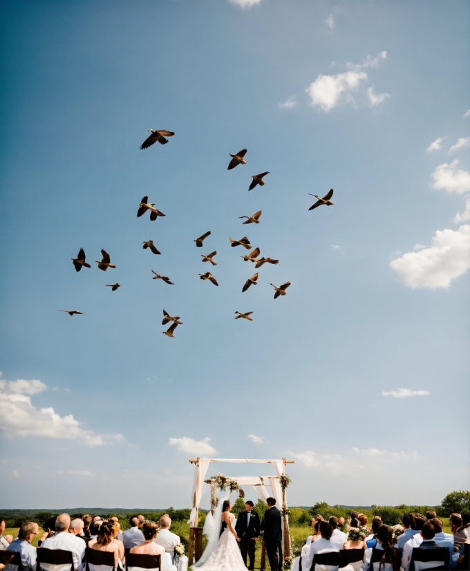
[[[388,265],[409,288],[449,288],[470,268],[470,225],[438,230],[431,247],[408,252]]]

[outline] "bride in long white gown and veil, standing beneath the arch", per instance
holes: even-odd
[[[238,536],[234,529],[234,514],[229,496],[224,498],[214,512],[214,525],[209,532],[209,542],[203,556],[193,568],[200,571],[243,571],[245,563],[238,548]],[[220,507],[221,506],[221,507]]]

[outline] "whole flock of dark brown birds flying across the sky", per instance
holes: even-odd
[[[149,132],[151,133],[151,135],[149,135],[149,137],[146,140],[144,140],[144,142],[140,146],[141,150],[148,149],[156,142],[159,142],[160,144],[167,144],[168,142],[167,137],[173,137],[175,135],[173,131],[165,131],[164,129],[161,129],[159,131],[156,131],[155,129],[149,129]],[[245,160],[246,153],[247,149],[242,149],[235,155],[229,153],[229,156],[232,157],[232,160],[230,160],[227,170],[231,171],[235,167],[238,167],[238,165],[246,165],[247,164]],[[250,187],[248,188],[248,190],[249,191],[253,190],[257,185],[264,186],[265,182],[263,178],[267,174],[270,174],[269,171],[265,171],[260,174],[255,174],[254,176],[252,176],[252,182],[250,183]],[[334,204],[330,200],[333,196],[333,189],[330,189],[330,191],[328,191],[328,193],[325,196],[323,196],[323,198],[317,196],[316,194],[309,193],[309,195],[317,198],[317,202],[314,203],[309,208],[309,210],[313,210],[322,205],[331,206]],[[148,196],[144,196],[139,203],[137,211],[138,218],[144,216],[144,214],[146,214],[147,212],[150,213],[151,221],[156,221],[159,216],[165,216],[163,212],[160,212],[160,210],[156,208],[155,203],[149,203]],[[258,212],[252,214],[252,216],[239,216],[239,218],[246,218],[243,224],[259,224],[261,214],[263,213],[261,210],[259,210]],[[208,231],[205,232],[205,234],[203,234],[202,236],[196,238],[196,240],[194,240],[194,242],[196,243],[196,247],[203,247],[205,239],[210,235],[211,232]],[[279,260],[274,260],[272,258],[265,258],[265,257],[259,258],[259,255],[261,254],[259,247],[253,247],[247,236],[243,236],[243,238],[240,238],[240,240],[230,238],[230,243],[232,247],[242,246],[246,250],[251,250],[250,253],[240,257],[244,261],[254,263],[254,267],[256,270],[261,268],[265,263],[270,263],[272,265],[277,265],[279,263]],[[149,249],[151,252],[153,252],[153,254],[161,255],[161,252],[158,251],[158,248],[153,243],[153,240],[144,241],[144,245],[142,247],[144,248],[144,250]],[[108,254],[108,252],[106,252],[106,250],[101,250],[101,254],[102,254],[102,259],[96,261],[97,266],[100,270],[106,272],[109,268],[116,267],[113,263],[111,263],[111,256]],[[202,261],[205,263],[210,263],[213,266],[217,265],[217,262],[214,261],[214,257],[216,256],[216,254],[217,254],[216,250],[214,250],[214,252],[210,252],[209,254],[201,254]],[[80,248],[76,258],[72,258],[72,262],[77,272],[80,272],[82,268],[91,268],[91,265],[86,261],[86,255],[83,248]],[[173,282],[170,281],[168,276],[163,276],[162,274],[158,274],[153,270],[151,270],[151,272],[153,273],[153,279],[156,280],[161,279],[162,281],[164,281],[164,283],[167,283],[169,286],[174,285]],[[213,283],[214,286],[218,286],[217,280],[212,275],[211,272],[205,272],[203,274],[198,274],[198,275],[200,279],[208,280],[211,283]],[[258,277],[259,273],[256,272],[256,274],[253,274],[252,277],[248,278],[247,281],[245,281],[245,284],[242,288],[242,292],[246,292],[251,286],[256,286],[258,284]],[[278,297],[284,296],[287,293],[287,289],[290,286],[290,281],[286,281],[285,283],[281,284],[281,286],[274,286],[274,283],[270,283],[270,286],[274,288],[274,299],[277,299]],[[116,290],[118,290],[118,288],[121,287],[121,284],[118,282],[110,283],[107,284],[105,287],[111,288],[111,291],[115,292]],[[59,310],[59,311],[66,312],[68,313],[68,315],[82,315],[82,312],[78,310]],[[245,313],[236,311],[235,314],[236,314],[235,319],[247,319],[247,321],[253,321],[251,317],[253,311],[248,311]],[[163,331],[162,333],[164,335],[167,335],[167,337],[174,337],[174,332],[179,325],[182,325],[182,321],[180,321],[180,317],[177,316],[172,317],[171,315],[169,315],[169,313],[166,310],[163,310],[162,325],[167,325],[170,322],[171,325],[169,326],[169,328]]]

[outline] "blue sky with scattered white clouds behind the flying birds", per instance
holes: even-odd
[[[0,10],[0,507],[190,507],[197,456],[294,460],[290,505],[468,489],[469,4]]]

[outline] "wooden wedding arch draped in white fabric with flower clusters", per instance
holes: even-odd
[[[211,512],[214,513],[216,507],[217,489],[229,488],[235,491],[240,486],[251,486],[254,492],[263,500],[270,495],[276,498],[276,505],[283,516],[283,553],[290,556],[290,532],[289,532],[289,509],[285,490],[290,484],[290,478],[285,472],[286,464],[294,464],[294,460],[252,460],[251,458],[190,458],[189,462],[194,464],[194,482],[192,492],[192,509],[189,516],[189,564],[192,563],[193,555],[198,561],[202,554],[203,528],[198,527],[199,505],[203,496],[204,484],[211,487]],[[209,479],[206,478],[209,465],[217,462],[227,462],[230,464],[270,464],[274,469],[272,476],[223,476],[217,474]],[[271,494],[267,493],[266,486],[270,486]],[[263,545],[264,547],[264,545]]]

